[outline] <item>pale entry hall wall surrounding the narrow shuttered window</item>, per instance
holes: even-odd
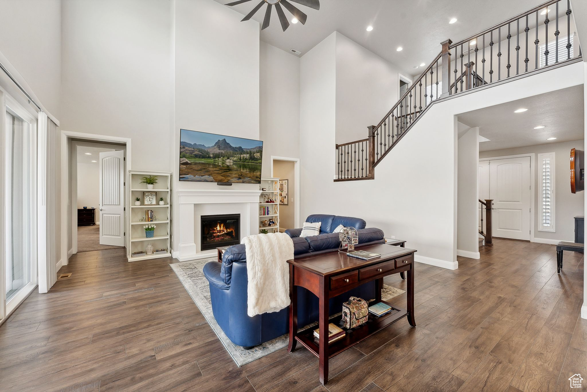
[[[542,242],[541,239],[558,241],[575,241],[575,221],[573,217],[583,215],[583,196],[571,193],[569,185],[569,154],[571,148],[575,147],[583,150],[583,140],[567,141],[565,143],[540,144],[539,146],[528,146],[519,148],[507,148],[504,150],[483,151],[479,153],[480,158],[504,157],[517,154],[539,154],[555,153],[555,232],[539,231],[540,227],[540,165],[533,168],[536,175],[536,183],[532,185],[534,189],[534,232],[535,241]]]

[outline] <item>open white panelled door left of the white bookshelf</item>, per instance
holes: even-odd
[[[100,244],[124,246],[124,151],[100,153]]]

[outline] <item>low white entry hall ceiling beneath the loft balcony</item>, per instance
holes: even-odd
[[[528,110],[514,113],[521,108]],[[468,111],[458,121],[479,127],[490,140],[479,144],[480,151],[583,140],[583,85]]]

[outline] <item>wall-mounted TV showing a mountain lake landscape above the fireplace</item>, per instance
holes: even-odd
[[[263,142],[180,130],[180,181],[261,183]]]

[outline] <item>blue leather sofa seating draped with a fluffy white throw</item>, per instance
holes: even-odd
[[[310,215],[310,219],[323,219],[323,234],[300,237],[301,229],[288,230],[294,241],[294,258],[323,252],[336,252],[339,248],[338,233],[331,233],[336,222],[345,222],[359,229],[359,244],[383,242],[383,231],[365,228],[359,218],[335,217],[333,215]],[[295,234],[298,234],[297,236]],[[209,262],[204,265],[204,275],[210,283],[212,313],[228,339],[247,349],[268,342],[289,332],[288,308],[274,313],[263,313],[254,317],[247,315],[247,255],[245,245],[232,245],[222,256],[222,263]],[[354,290],[330,299],[331,313],[342,310],[342,303],[349,296],[375,298],[375,283],[365,283]],[[318,320],[318,298],[306,289],[298,289],[298,326],[302,327]]]

